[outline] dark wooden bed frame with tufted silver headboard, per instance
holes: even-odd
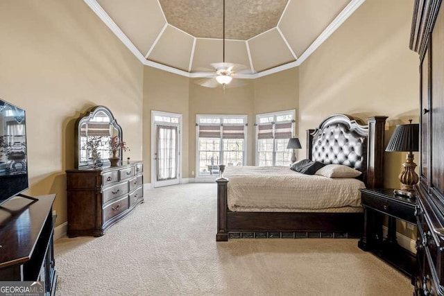
[[[365,125],[360,119],[345,114],[335,114],[325,119],[315,130],[307,130],[307,158],[324,163],[347,164],[362,172],[367,188],[379,188],[383,183],[384,130],[386,116],[374,116]],[[328,132],[328,134],[327,134]],[[343,153],[329,151],[329,139],[336,134],[347,134],[352,141],[359,141],[364,150],[361,159],[343,159]],[[345,141],[349,141],[346,139]],[[324,146],[320,146],[320,145]],[[339,147],[342,151],[342,146]],[[353,148],[352,148],[353,149]],[[347,157],[347,156],[345,156]],[[229,211],[227,206],[228,179],[217,182],[217,234],[216,241],[228,238],[300,238],[300,237],[359,237],[363,229],[363,213],[317,212],[241,212]]]

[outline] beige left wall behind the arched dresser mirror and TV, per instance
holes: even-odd
[[[57,193],[60,225],[80,114],[109,107],[125,157],[142,159],[142,64],[83,1],[0,1],[0,19],[0,98],[26,110],[26,193]]]

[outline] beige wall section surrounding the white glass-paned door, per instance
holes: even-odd
[[[144,67],[144,182],[151,183],[151,111],[182,114],[182,177],[189,173],[189,78]]]

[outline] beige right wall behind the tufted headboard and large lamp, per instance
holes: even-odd
[[[418,122],[419,62],[409,50],[412,11],[413,0],[365,1],[302,63],[299,134],[334,113],[388,116],[386,142],[394,125]],[[405,155],[384,157],[384,185],[399,188]]]

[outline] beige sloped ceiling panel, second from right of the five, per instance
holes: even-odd
[[[277,29],[248,41],[255,71],[260,72],[295,59]]]

